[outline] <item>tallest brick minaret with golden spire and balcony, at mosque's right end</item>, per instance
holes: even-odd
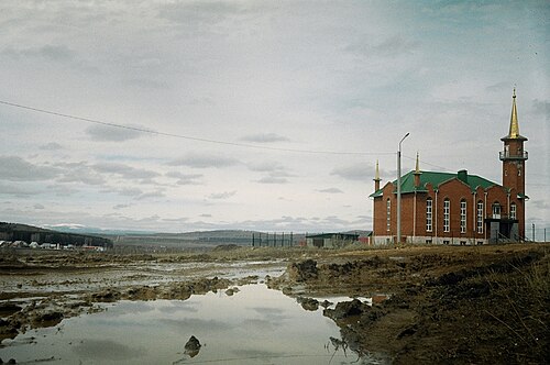
[[[501,139],[504,142],[504,151],[501,152],[503,162],[503,186],[516,189],[519,196],[525,196],[525,161],[527,151],[524,151],[524,142],[527,139],[519,134],[517,120],[516,89],[512,97],[512,117],[508,135]]]

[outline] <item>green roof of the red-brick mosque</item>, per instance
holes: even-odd
[[[468,179],[464,179],[464,177],[468,177]],[[493,182],[491,180],[487,180],[483,177],[480,177],[477,175],[468,175],[464,170],[459,172],[459,173],[436,173],[436,172],[421,172],[420,174],[420,186],[415,187],[415,172],[410,172],[405,174],[402,177],[402,193],[408,193],[408,192],[426,192],[428,191],[426,189],[426,185],[431,184],[433,189],[438,189],[439,186],[443,182],[447,182],[452,179],[460,179],[461,181],[465,182],[472,191],[474,191],[477,187],[482,187],[483,189],[490,188],[492,186],[498,185],[496,182]],[[392,181],[392,184],[396,187],[397,189],[397,180]],[[381,197],[382,196],[382,189],[378,189],[374,191],[373,193],[370,195],[372,198]]]

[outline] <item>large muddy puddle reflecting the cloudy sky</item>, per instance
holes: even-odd
[[[30,331],[0,349],[18,363],[54,356],[55,364],[350,364],[348,351],[326,346],[339,329],[322,311],[305,311],[296,300],[263,285],[193,296],[186,301],[122,301],[107,311]],[[184,345],[195,335],[195,357]],[[34,341],[23,341],[34,336]],[[361,362],[359,362],[361,364]]]

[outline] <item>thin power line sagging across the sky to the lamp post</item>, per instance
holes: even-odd
[[[67,118],[67,119],[74,119],[87,123],[94,123],[94,124],[100,124],[100,125],[106,125],[106,126],[111,126],[111,128],[118,128],[118,129],[123,129],[123,130],[130,130],[130,131],[135,131],[135,132],[141,132],[141,133],[148,133],[148,134],[155,134],[155,135],[162,135],[162,136],[169,136],[169,137],[175,137],[175,139],[184,139],[184,140],[189,140],[189,141],[197,141],[197,142],[205,142],[205,143],[213,143],[213,144],[222,144],[222,145],[229,145],[229,146],[234,146],[234,147],[246,147],[246,148],[256,148],[256,150],[268,150],[268,151],[278,151],[278,152],[292,152],[292,153],[308,153],[308,154],[326,154],[326,155],[358,155],[358,156],[369,156],[369,155],[395,155],[395,152],[350,152],[350,151],[316,151],[316,150],[299,150],[299,148],[283,148],[283,147],[271,147],[271,146],[258,146],[254,144],[246,144],[246,143],[238,143],[238,142],[228,142],[228,141],[219,141],[219,140],[210,140],[210,139],[202,139],[202,137],[195,137],[195,136],[189,136],[189,135],[184,135],[184,134],[175,134],[175,133],[166,133],[166,132],[158,132],[154,130],[147,130],[143,128],[138,128],[138,126],[130,126],[130,125],[123,125],[123,124],[117,124],[117,123],[111,123],[111,122],[103,122],[100,120],[95,120],[95,119],[89,119],[89,118],[82,118],[82,117],[76,117],[72,114],[66,114],[66,113],[59,113],[51,110],[45,110],[45,109],[40,109],[40,108],[34,108],[34,107],[28,107],[23,104],[18,104],[14,102],[9,102],[9,101],[3,101],[0,100],[0,103],[4,106],[10,106],[10,107],[15,107],[20,109],[25,109],[25,110],[31,110],[34,112],[38,113],[44,113],[44,114],[50,114],[50,115],[56,115],[56,117],[62,117],[62,118]]]

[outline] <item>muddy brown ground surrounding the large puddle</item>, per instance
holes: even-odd
[[[550,244],[348,250],[226,247],[202,254],[0,252],[0,340],[100,310],[265,280],[324,309],[342,341],[394,364],[550,363]],[[231,248],[231,250],[230,250]],[[285,269],[286,268],[286,269]],[[252,275],[251,275],[252,273]]]

